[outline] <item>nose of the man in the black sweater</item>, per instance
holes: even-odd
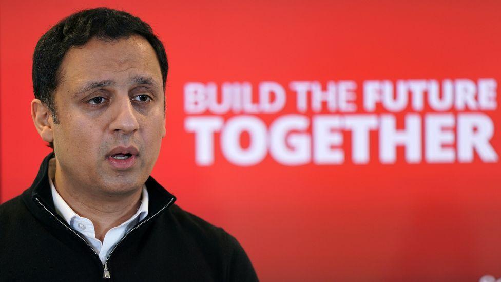
[[[136,111],[130,102],[128,95],[115,98],[111,114],[113,120],[110,123],[110,131],[122,134],[131,134],[139,129]]]

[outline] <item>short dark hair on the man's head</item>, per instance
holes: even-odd
[[[54,90],[61,79],[60,66],[71,47],[85,45],[90,39],[116,40],[131,35],[144,37],[157,55],[163,87],[167,80],[167,55],[151,27],[139,17],[124,11],[95,8],[76,12],[47,31],[33,52],[33,92],[50,110],[54,123],[59,123],[54,103]],[[164,98],[165,110],[165,98]],[[49,144],[52,147],[52,143]]]

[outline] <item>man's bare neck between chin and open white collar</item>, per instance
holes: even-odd
[[[89,189],[74,181],[67,181],[60,168],[57,165],[54,168],[52,179],[57,192],[76,214],[92,221],[95,237],[101,241],[108,230],[131,218],[141,205],[142,187],[125,195],[99,193],[95,187]]]

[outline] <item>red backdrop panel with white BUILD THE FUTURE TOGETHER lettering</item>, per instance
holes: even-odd
[[[2,0],[2,202],[50,152],[30,117],[34,46],[98,6],[166,46],[152,175],[263,281],[501,277],[499,2]]]

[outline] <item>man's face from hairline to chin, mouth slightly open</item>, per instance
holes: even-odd
[[[55,91],[54,152],[64,182],[105,194],[146,181],[165,136],[162,74],[141,36],[71,48]]]

